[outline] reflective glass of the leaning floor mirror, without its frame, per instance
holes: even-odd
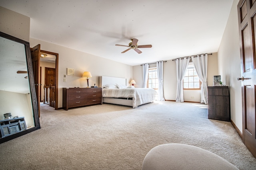
[[[0,138],[35,127],[25,45],[0,37]]]

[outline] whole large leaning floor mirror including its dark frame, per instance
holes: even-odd
[[[0,32],[0,143],[40,129],[29,43]]]

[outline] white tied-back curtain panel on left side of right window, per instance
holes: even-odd
[[[190,57],[176,59],[176,73],[177,73],[177,92],[176,102],[184,102],[183,96],[183,78],[188,68]]]

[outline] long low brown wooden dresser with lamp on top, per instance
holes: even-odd
[[[102,88],[63,88],[63,109],[92,104],[102,104]]]

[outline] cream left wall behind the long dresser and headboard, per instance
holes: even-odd
[[[132,66],[108,60],[102,57],[48,43],[38,39],[30,38],[30,47],[41,45],[41,50],[59,54],[58,68],[58,107],[62,107],[62,88],[66,87],[87,87],[86,78],[82,78],[84,71],[90,71],[92,77],[89,79],[89,86],[99,86],[99,76],[122,77],[131,80]],[[74,76],[66,76],[67,68],[74,69]]]

